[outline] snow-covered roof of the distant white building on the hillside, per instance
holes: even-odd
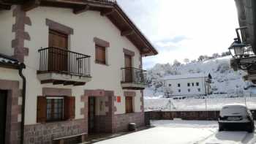
[[[167,75],[163,77],[163,80],[176,80],[184,78],[197,78],[197,77],[208,77],[208,73],[195,73],[195,74],[186,74],[186,75]]]

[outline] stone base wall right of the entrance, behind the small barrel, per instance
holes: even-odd
[[[145,126],[144,113],[126,113],[115,115],[115,122],[115,132],[127,131],[129,123],[135,123],[137,126]]]

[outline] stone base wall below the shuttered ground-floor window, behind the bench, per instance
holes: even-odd
[[[87,132],[85,119],[25,126],[24,143],[53,143],[53,138]]]

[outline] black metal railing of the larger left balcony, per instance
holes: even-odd
[[[39,72],[58,72],[90,77],[90,57],[62,48],[41,48]]]

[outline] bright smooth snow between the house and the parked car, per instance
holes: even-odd
[[[97,144],[192,144],[217,131],[216,121],[153,121],[153,125]]]

